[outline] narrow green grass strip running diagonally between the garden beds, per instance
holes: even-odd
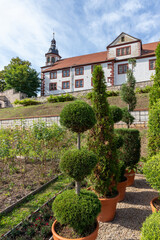
[[[51,183],[45,190],[29,197],[25,203],[15,207],[12,212],[0,216],[0,236],[11,230],[37,208],[41,207],[45,202],[54,197],[70,182],[71,179],[61,175],[56,182]]]

